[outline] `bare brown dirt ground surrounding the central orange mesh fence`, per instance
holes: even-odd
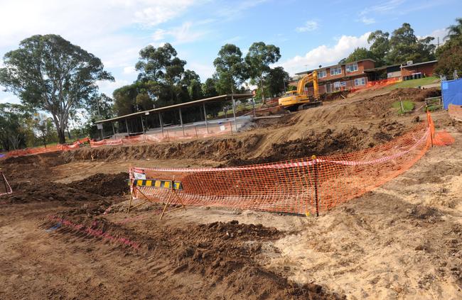
[[[0,299],[462,299],[462,123],[456,143],[318,218],[127,208],[127,170],[272,162],[373,147],[414,126],[433,90],[370,91],[244,133],[0,162]]]

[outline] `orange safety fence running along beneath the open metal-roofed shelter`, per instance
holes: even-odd
[[[93,142],[90,140],[90,147],[97,148],[109,145],[138,145],[142,143],[169,142],[172,140],[188,140],[191,138],[207,138],[210,136],[232,133],[232,122],[210,125],[207,127],[185,127],[175,130],[164,129],[163,133],[144,133],[125,138],[108,138]]]

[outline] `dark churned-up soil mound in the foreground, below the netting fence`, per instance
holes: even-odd
[[[257,264],[254,257],[261,253],[262,242],[284,235],[276,228],[239,224],[237,221],[171,227],[159,226],[153,221],[153,229],[149,230],[149,235],[144,235],[104,218],[95,220],[86,216],[68,216],[67,213],[58,216],[78,226],[58,226],[56,233],[68,235],[73,232],[81,236],[96,232],[107,237],[124,237],[130,245],[136,245],[150,257],[150,264],[156,264],[152,260],[158,260],[159,265],[167,263],[169,267],[162,270],[161,278],[198,274],[204,280],[225,287],[222,290],[225,299],[345,299],[318,284],[299,286],[291,283]],[[47,220],[41,227],[56,228],[56,224],[56,221]],[[131,249],[122,244],[116,247],[124,251]],[[191,290],[189,296],[195,298],[196,292]]]

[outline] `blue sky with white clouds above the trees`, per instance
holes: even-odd
[[[264,41],[281,48],[276,65],[294,74],[335,64],[367,47],[371,31],[392,31],[404,22],[416,35],[442,42],[461,11],[460,0],[0,0],[0,57],[33,34],[60,34],[101,58],[116,81],[101,82],[100,90],[112,95],[136,79],[138,52],[149,44],[171,43],[205,80],[225,43],[245,53]],[[4,102],[19,101],[0,91]]]

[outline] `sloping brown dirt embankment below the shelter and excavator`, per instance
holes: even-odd
[[[311,155],[346,153],[385,143],[414,126],[423,110],[398,116],[397,99],[423,101],[435,90],[400,89],[370,99],[333,101],[282,118],[261,119],[252,129],[231,137],[185,142],[85,148],[65,152],[62,159],[198,159],[222,166],[276,162]]]

